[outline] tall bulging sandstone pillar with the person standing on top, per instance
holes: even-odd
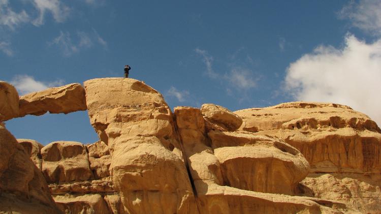
[[[108,144],[110,171],[131,213],[195,213],[171,110],[162,95],[127,78],[84,82],[90,123]]]

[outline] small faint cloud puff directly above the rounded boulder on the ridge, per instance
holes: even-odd
[[[256,80],[251,77],[251,71],[244,68],[233,68],[224,78],[236,89],[247,90],[257,85]]]

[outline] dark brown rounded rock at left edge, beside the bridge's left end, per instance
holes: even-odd
[[[16,88],[0,81],[0,121],[5,121],[19,114],[19,97]]]

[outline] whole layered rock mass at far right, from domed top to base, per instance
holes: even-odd
[[[283,103],[235,112],[240,130],[283,139],[311,169],[301,193],[345,202],[358,212],[381,209],[381,130],[363,113],[332,103]]]

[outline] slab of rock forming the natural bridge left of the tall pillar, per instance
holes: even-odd
[[[48,88],[20,97],[19,117],[27,114],[70,113],[86,110],[85,90],[79,83]]]

